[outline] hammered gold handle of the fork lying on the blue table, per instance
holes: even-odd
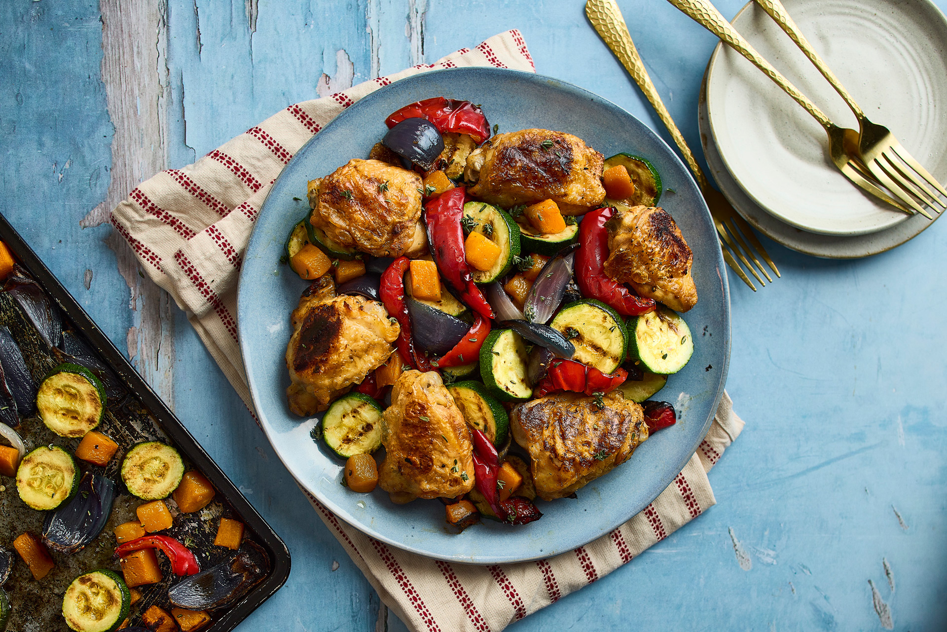
[[[616,1],[589,0],[585,4],[585,15],[588,16],[589,22],[595,27],[601,39],[604,40],[605,44],[615,53],[618,61],[625,66],[625,70],[628,71],[634,79],[634,82],[641,88],[641,92],[643,92],[645,97],[651,102],[654,111],[657,112],[657,116],[661,118],[661,121],[668,128],[670,137],[673,138],[678,149],[684,154],[684,159],[688,162],[688,167],[694,174],[697,184],[700,185],[702,190],[706,189],[706,176],[701,170],[700,165],[697,164],[694,153],[690,151],[688,142],[684,139],[684,135],[677,129],[677,125],[674,124],[674,120],[670,117],[670,112],[668,112],[668,108],[664,106],[664,101],[661,100],[661,96],[657,93],[657,88],[654,87],[654,83],[652,83],[651,77],[645,69],[645,64],[641,61],[641,56],[638,55],[637,48],[634,47],[632,36],[628,32],[628,26],[625,24],[625,18],[621,15],[621,9],[618,9]]]

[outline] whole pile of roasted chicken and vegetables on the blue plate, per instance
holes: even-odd
[[[353,493],[538,520],[675,423],[650,398],[693,352],[693,255],[645,158],[442,97],[385,123],[290,230],[290,409]]]

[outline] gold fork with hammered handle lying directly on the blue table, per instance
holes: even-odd
[[[707,208],[710,209],[710,215],[713,217],[714,226],[717,227],[721,251],[724,253],[724,261],[733,268],[733,271],[737,273],[737,276],[739,276],[743,282],[753,288],[754,292],[757,291],[757,286],[746,276],[746,272],[743,271],[740,263],[730,254],[730,250],[732,250],[737,257],[740,258],[740,261],[749,268],[760,285],[766,285],[766,282],[759,277],[753,265],[747,261],[740,248],[734,244],[734,241],[736,241],[736,243],[740,244],[743,250],[746,251],[749,258],[757,264],[763,276],[772,282],[773,279],[759,262],[753,249],[746,244],[746,242],[749,242],[753,244],[753,247],[759,252],[759,256],[763,258],[763,261],[765,261],[773,272],[776,273],[776,276],[779,277],[779,270],[776,263],[773,262],[769,253],[767,253],[766,249],[759,243],[759,239],[757,239],[753,229],[737,214],[733,207],[730,206],[730,203],[726,201],[724,195],[720,193],[720,191],[713,189],[707,181],[704,172],[694,158],[694,153],[690,151],[687,141],[684,139],[684,136],[681,135],[681,131],[677,129],[677,125],[674,124],[668,112],[668,108],[665,107],[664,102],[661,100],[657,89],[651,81],[651,77],[648,75],[648,71],[645,70],[645,65],[641,61],[637,49],[634,47],[632,36],[628,32],[625,19],[622,17],[621,10],[618,9],[615,0],[588,0],[585,4],[585,15],[588,16],[589,21],[592,23],[592,26],[595,27],[601,39],[604,40],[605,44],[615,53],[618,61],[621,62],[629,74],[631,74],[634,82],[641,88],[641,92],[651,101],[652,107],[657,112],[658,117],[660,117],[665,126],[667,126],[670,137],[674,139],[677,147],[681,150],[681,153],[684,154],[684,159],[687,161],[690,171],[693,172],[694,178],[697,180],[697,184],[704,194]],[[746,237],[745,241],[743,240],[741,231],[742,235]],[[727,246],[729,246],[730,250],[727,249]]]

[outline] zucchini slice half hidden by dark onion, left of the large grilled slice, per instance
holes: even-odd
[[[480,377],[491,395],[505,402],[524,402],[532,395],[529,361],[523,338],[511,329],[497,329],[480,348]]]

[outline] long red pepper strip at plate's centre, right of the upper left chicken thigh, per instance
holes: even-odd
[[[470,266],[467,264],[467,253],[464,251],[464,230],[460,226],[460,219],[464,214],[464,194],[464,188],[457,187],[441,193],[424,205],[427,240],[431,244],[431,254],[438,263],[440,274],[460,294],[460,299],[470,305],[477,314],[492,318],[493,310],[474,283]],[[382,291],[384,292],[384,277]],[[388,313],[390,314],[391,310],[388,310]]]

